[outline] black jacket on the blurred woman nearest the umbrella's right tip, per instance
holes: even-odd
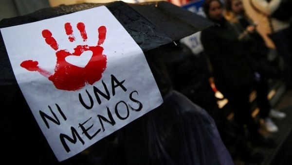
[[[223,92],[240,90],[252,83],[249,52],[237,39],[237,32],[224,18],[201,33],[204,51],[210,58],[216,86]]]

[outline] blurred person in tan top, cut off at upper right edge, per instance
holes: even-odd
[[[273,13],[281,0],[243,0],[246,14],[258,23],[258,32],[265,40],[272,40],[277,52],[283,57],[282,77],[288,88],[292,85],[292,30],[289,20],[279,20]]]

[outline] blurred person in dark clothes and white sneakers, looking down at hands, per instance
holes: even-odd
[[[268,79],[277,75],[276,66],[268,65],[267,55],[269,48],[265,45],[262,37],[256,32],[256,24],[245,14],[241,0],[225,0],[224,16],[238,33],[238,40],[243,43],[251,54],[251,64],[254,75],[254,86],[256,89],[256,102],[260,109],[259,117],[262,126],[268,132],[277,132],[278,127],[272,119],[283,118],[286,114],[271,108],[268,100]]]

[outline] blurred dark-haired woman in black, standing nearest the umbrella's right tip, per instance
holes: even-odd
[[[274,146],[272,139],[258,132],[259,126],[251,116],[249,94],[252,90],[254,74],[250,66],[249,51],[238,40],[236,29],[223,17],[223,6],[219,0],[205,0],[203,7],[206,16],[219,24],[203,30],[201,42],[205,53],[209,56],[215,84],[229,100],[234,111],[234,120],[239,125],[237,135],[245,137],[244,125],[246,125],[249,139],[253,144],[263,147]],[[241,151],[248,149],[247,145],[240,147]],[[251,148],[250,156],[258,162],[262,157]]]

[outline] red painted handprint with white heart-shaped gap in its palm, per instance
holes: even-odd
[[[87,33],[85,31],[85,25],[82,22],[77,24],[77,29],[80,31],[83,41],[87,39]],[[65,23],[66,34],[69,36],[70,42],[75,40],[73,36],[73,30],[70,23]],[[107,57],[102,54],[103,48],[100,46],[103,44],[106,39],[107,28],[101,26],[98,28],[98,42],[96,46],[88,45],[77,45],[74,48],[74,52],[70,53],[66,49],[58,50],[59,46],[52,36],[52,33],[49,30],[43,30],[42,36],[45,38],[45,41],[56,51],[56,65],[55,73],[51,74],[50,72],[44,70],[38,66],[37,61],[26,60],[23,61],[20,66],[26,68],[29,71],[37,71],[41,75],[48,78],[52,81],[57,89],[74,91],[81,89],[85,84],[93,84],[101,79],[101,74],[105,71],[107,67]],[[70,55],[80,56],[85,51],[91,51],[92,56],[85,67],[74,66],[68,63],[65,58]]]

